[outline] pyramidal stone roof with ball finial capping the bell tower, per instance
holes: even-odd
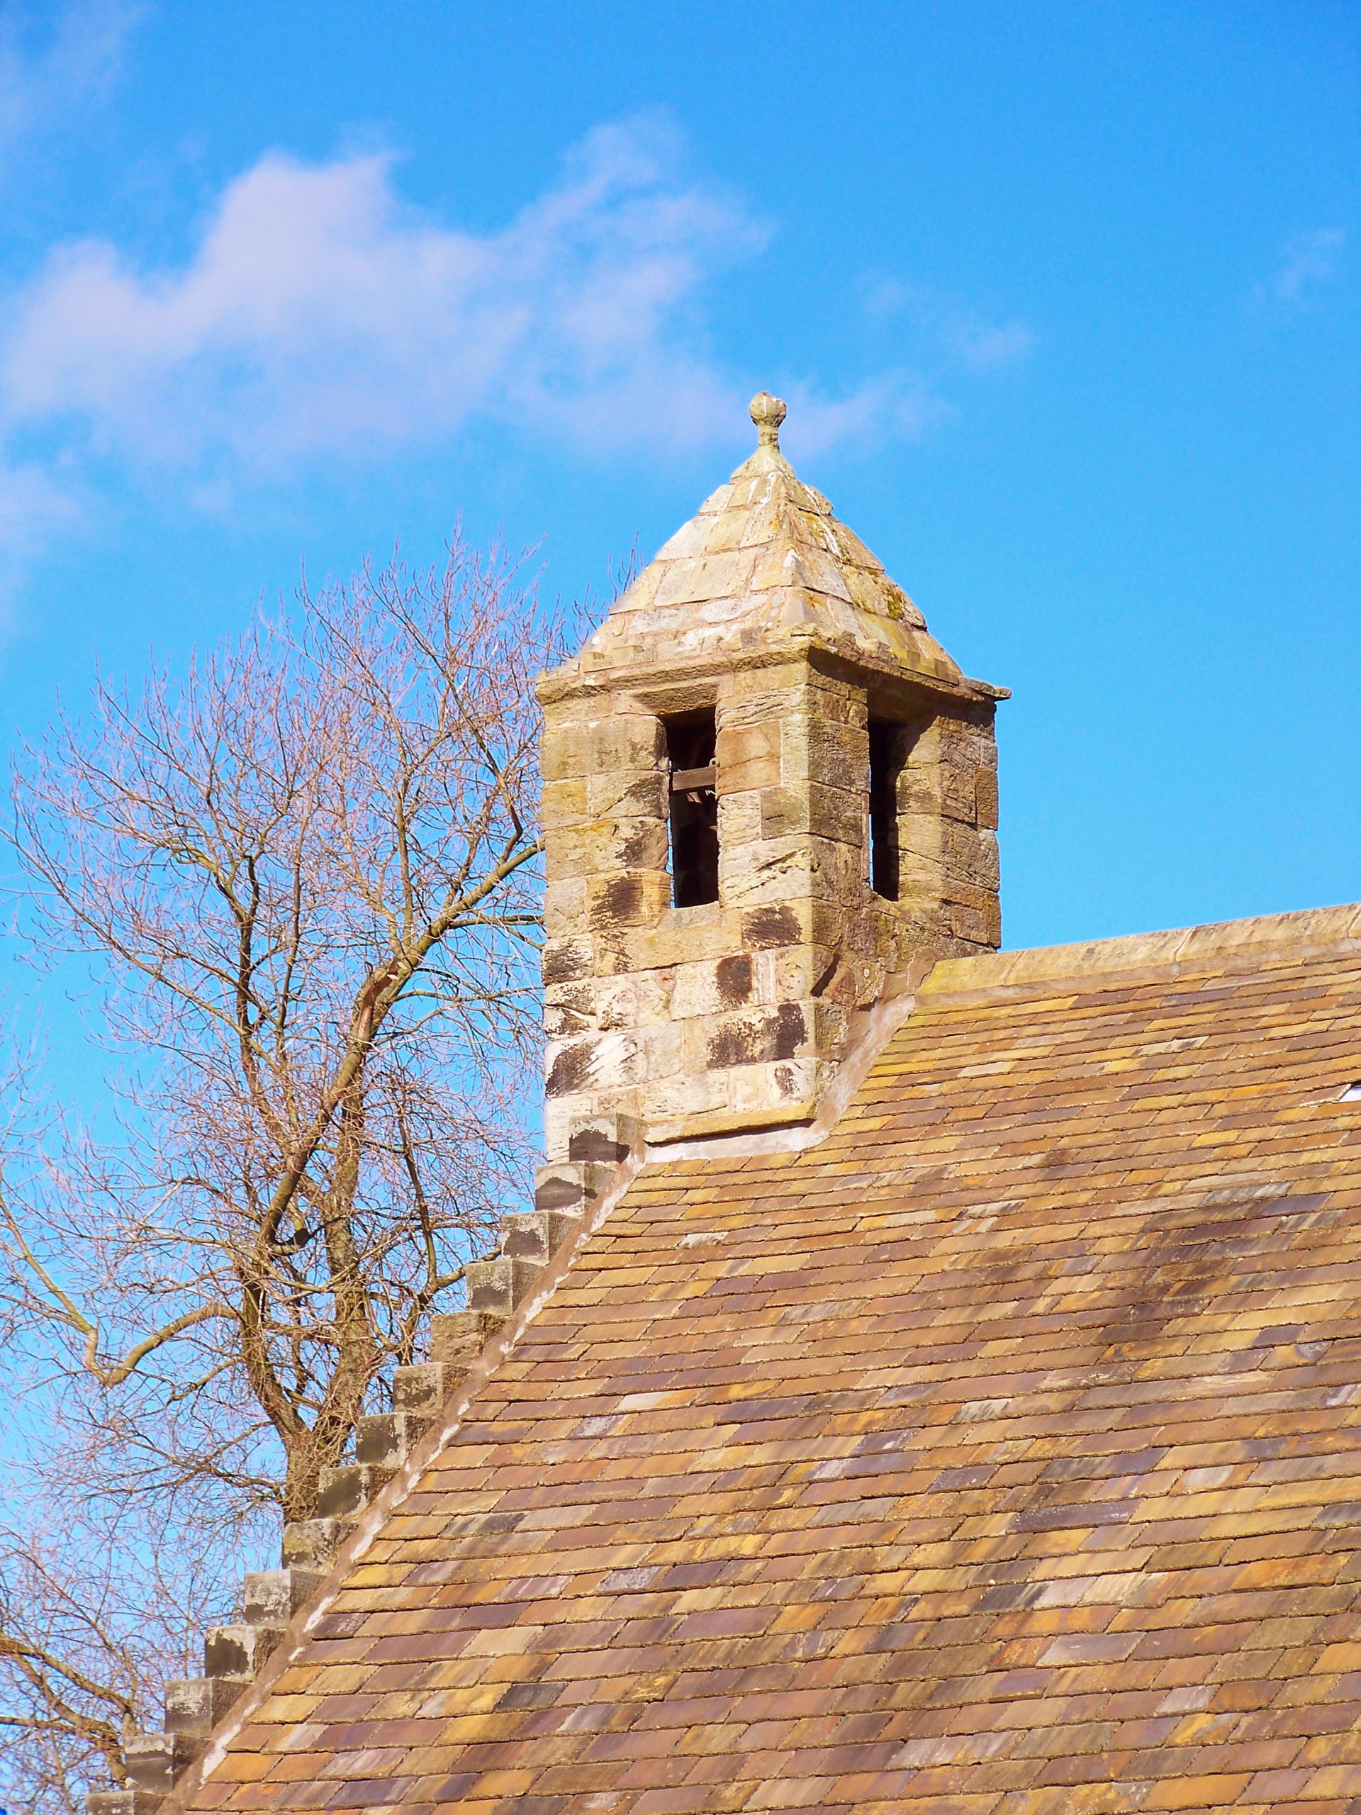
[[[795,474],[778,443],[784,414],[764,390],[751,399],[757,452],[613,603],[579,666],[653,668],[813,639],[949,692],[1005,697],[964,677],[884,563]]]

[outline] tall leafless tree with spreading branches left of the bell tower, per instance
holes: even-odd
[[[33,1505],[78,1503],[80,1555],[94,1534],[147,1604],[176,1523],[209,1594],[214,1532],[314,1510],[523,1185],[532,682],[557,650],[514,566],[455,544],[443,572],[303,595],[136,699],[100,684],[16,766],[29,951],[80,975],[129,1064],[116,1138],[11,1145],[0,1338],[62,1428]],[[25,1530],[0,1717],[107,1755],[162,1666],[122,1664],[123,1612],[73,1592],[73,1526],[56,1552]]]

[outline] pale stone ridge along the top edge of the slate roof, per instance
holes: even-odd
[[[1138,969],[1239,969],[1261,964],[1270,947],[1287,946],[1279,962],[1319,951],[1361,951],[1361,902],[1336,908],[1305,908],[1290,913],[1254,915],[1245,920],[1210,920],[1201,926],[1158,933],[1123,933],[1116,938],[1078,940],[1071,946],[1031,946],[1020,951],[985,951],[969,958],[942,958],[918,986],[918,996],[973,996],[1034,984],[1083,982],[1111,987]]]

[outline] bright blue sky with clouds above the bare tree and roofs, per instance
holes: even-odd
[[[1361,9],[0,4],[0,722],[789,403],[1002,715],[1007,944],[1361,895]]]

